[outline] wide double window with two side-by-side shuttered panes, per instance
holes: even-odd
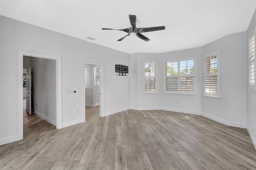
[[[194,93],[194,59],[166,62],[165,91]]]

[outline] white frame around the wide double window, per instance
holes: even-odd
[[[188,61],[188,60],[194,60],[194,91],[180,91],[180,61]],[[178,62],[178,91],[166,91],[166,63],[168,62]],[[196,95],[196,57],[189,57],[189,58],[182,58],[182,59],[174,59],[174,60],[168,60],[164,61],[164,93],[166,94],[180,94],[180,95]],[[184,75],[182,75],[184,76]],[[185,75],[184,77],[189,77],[189,75]]]

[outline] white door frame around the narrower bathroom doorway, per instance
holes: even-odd
[[[83,61],[83,118],[85,122],[85,65],[100,66],[100,117],[104,117],[104,64],[92,61]]]

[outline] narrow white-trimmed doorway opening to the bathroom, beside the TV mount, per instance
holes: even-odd
[[[94,112],[103,117],[103,64],[83,61],[83,109],[84,121],[86,113]]]

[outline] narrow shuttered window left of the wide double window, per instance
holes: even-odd
[[[144,63],[144,92],[156,92],[156,62]]]

